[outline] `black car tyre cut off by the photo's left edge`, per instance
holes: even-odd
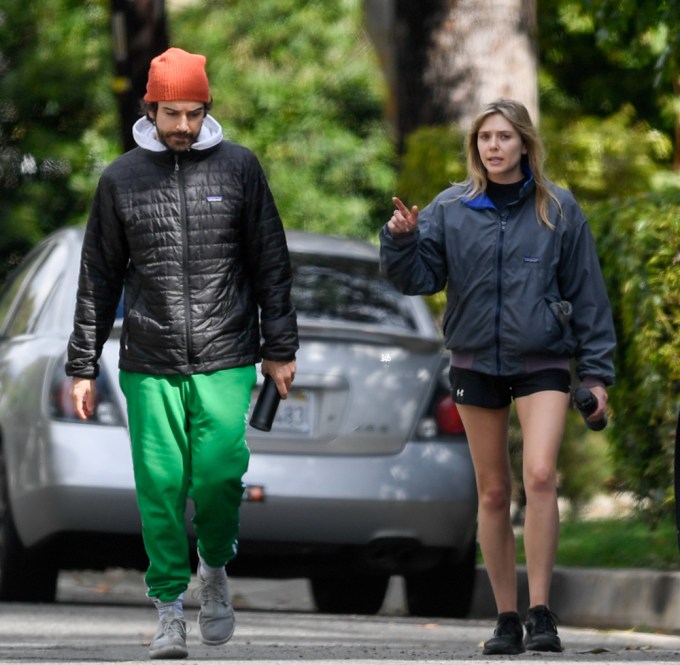
[[[46,550],[23,546],[9,505],[4,462],[0,447],[0,601],[54,602],[59,569]]]

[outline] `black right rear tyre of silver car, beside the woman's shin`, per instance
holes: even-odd
[[[467,616],[475,587],[477,548],[473,543],[462,559],[448,552],[434,567],[406,575],[406,603],[414,616]]]

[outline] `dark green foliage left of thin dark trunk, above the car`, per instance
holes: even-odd
[[[4,0],[0,9],[0,279],[89,208],[113,130],[106,0]],[[103,73],[104,72],[104,73]]]

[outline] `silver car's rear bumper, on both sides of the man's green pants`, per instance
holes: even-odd
[[[140,533],[127,431],[59,422],[49,438],[40,473],[13,501],[24,545],[64,532]],[[242,505],[244,551],[257,543],[380,550],[385,542],[474,542],[477,499],[464,442],[412,442],[394,455],[253,453],[244,482],[262,492]]]

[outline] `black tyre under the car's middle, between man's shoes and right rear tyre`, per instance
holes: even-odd
[[[387,575],[335,574],[313,577],[312,596],[319,612],[377,614],[385,600]]]

